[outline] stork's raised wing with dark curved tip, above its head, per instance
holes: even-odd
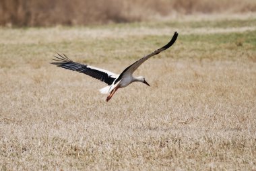
[[[178,37],[178,33],[174,32],[174,35],[172,36],[172,40],[170,40],[170,42],[168,42],[168,44],[166,44],[165,46],[162,46],[162,48],[158,48],[158,50],[155,50],[153,53],[150,53],[150,55],[146,55],[145,57],[143,57],[143,58],[139,59],[138,61],[136,61],[135,63],[131,64],[119,75],[119,77],[116,79],[115,83],[117,83],[119,80],[121,80],[123,75],[132,74],[139,67],[139,65],[141,65],[143,62],[148,60],[150,57],[153,57],[154,55],[158,55],[158,53],[161,53],[162,51],[164,51],[167,48],[169,48],[170,46],[172,46],[172,44],[174,44],[174,42],[176,41],[177,37]]]

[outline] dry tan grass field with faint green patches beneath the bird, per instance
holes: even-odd
[[[256,15],[0,28],[1,170],[256,170]],[[74,61],[142,83],[105,102]]]

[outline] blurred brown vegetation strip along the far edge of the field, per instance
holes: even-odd
[[[108,24],[169,15],[255,11],[255,0],[0,0],[0,26]]]

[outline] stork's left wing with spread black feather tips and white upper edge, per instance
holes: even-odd
[[[119,76],[115,73],[106,71],[104,69],[91,67],[89,65],[83,65],[80,63],[75,63],[75,62],[71,61],[64,54],[63,54],[63,56],[62,55],[59,55],[58,57],[55,56],[55,59],[53,59],[53,62],[51,64],[57,65],[57,67],[62,67],[64,69],[69,69],[71,71],[85,73],[86,75],[89,75],[96,79],[100,79],[100,81],[103,81],[103,82],[107,83],[108,85],[111,85],[113,83],[113,81],[115,81],[115,79]]]

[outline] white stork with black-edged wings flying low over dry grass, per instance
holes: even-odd
[[[100,92],[102,94],[108,94],[106,98],[106,102],[108,102],[108,100],[110,100],[110,98],[113,97],[113,95],[115,94],[115,92],[117,92],[119,88],[125,88],[132,82],[139,81],[150,86],[150,84],[145,80],[145,77],[133,77],[133,72],[139,67],[139,65],[148,60],[150,57],[158,55],[158,53],[161,53],[162,51],[172,46],[172,44],[174,44],[174,42],[176,41],[177,37],[178,33],[175,32],[170,42],[168,42],[168,44],[162,46],[162,48],[158,48],[158,50],[155,50],[153,53],[150,53],[149,55],[146,55],[145,57],[131,64],[129,67],[123,70],[123,72],[120,75],[104,69],[92,67],[90,65],[75,63],[64,54],[58,54],[59,56],[55,56],[55,59],[53,59],[53,62],[51,64],[57,65],[57,67],[62,67],[64,69],[69,69],[71,71],[85,73],[86,75],[89,75],[91,77],[94,77],[96,79],[99,79],[100,81],[107,83],[108,86],[100,89]]]

